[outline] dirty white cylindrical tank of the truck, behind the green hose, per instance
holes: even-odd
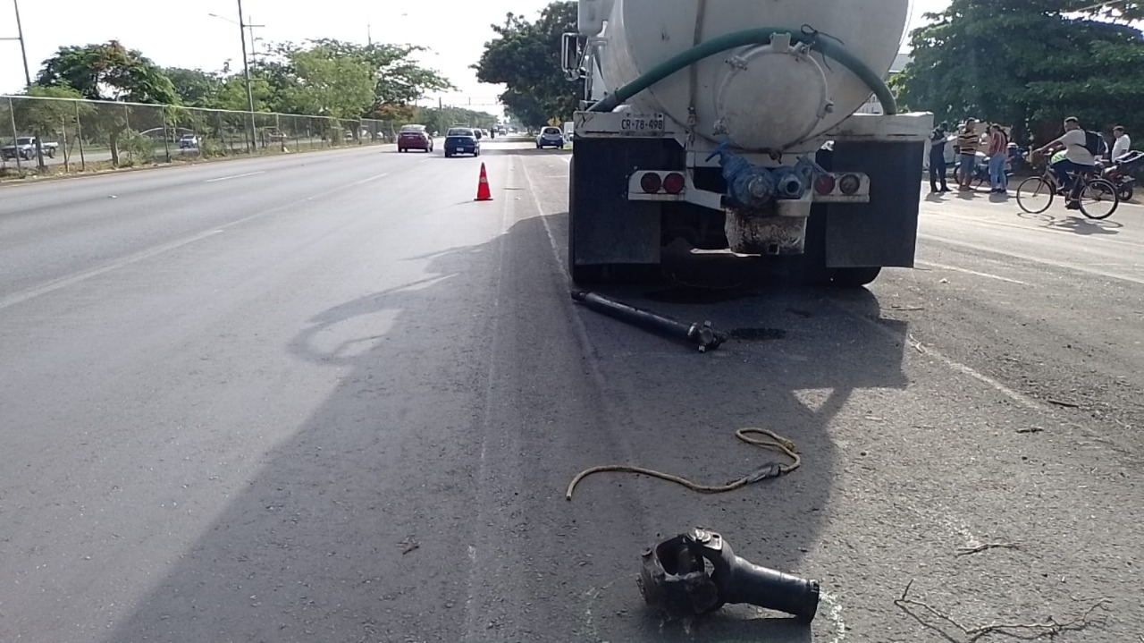
[[[841,41],[875,72],[893,64],[909,19],[909,0],[595,0],[606,18],[599,51],[609,92],[697,43],[754,27],[812,29]],[[607,11],[610,5],[610,11]],[[702,7],[702,15],[700,15]],[[597,18],[598,19],[598,18]],[[581,10],[581,30],[586,23]],[[871,88],[821,54],[779,42],[705,58],[637,94],[638,112],[664,113],[681,127],[694,105],[696,132],[749,150],[788,149],[839,125]]]

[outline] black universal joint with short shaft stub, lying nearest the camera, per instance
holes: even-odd
[[[818,581],[758,566],[734,555],[723,537],[696,529],[646,549],[639,570],[644,601],[673,619],[746,603],[792,614],[801,622],[818,612]]]

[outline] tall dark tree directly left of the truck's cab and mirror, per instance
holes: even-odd
[[[548,5],[535,22],[508,14],[505,24],[492,25],[498,38],[485,43],[472,65],[477,80],[505,85],[501,102],[530,127],[541,127],[549,118],[570,120],[583,95],[583,81],[564,78],[561,39],[575,27],[577,3],[566,0]]]

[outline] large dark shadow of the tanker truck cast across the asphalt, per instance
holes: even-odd
[[[702,525],[757,564],[831,575],[813,554],[845,550],[837,526],[823,538],[857,458],[834,431],[861,413],[860,389],[905,387],[901,330],[877,320],[868,291],[761,286],[701,305],[645,296],[659,286],[610,291],[784,331],[694,354],[574,308],[548,236],[563,225],[534,216],[408,257],[420,276],[316,311],[284,349],[336,388],[273,452],[249,454],[261,469],[105,641],[834,636],[828,584],[810,629],[740,606],[690,634],[661,626],[635,584],[639,551]],[[607,474],[564,498],[602,463],[738,477],[773,459],[733,438],[744,426],[794,439],[802,467],[718,495]]]

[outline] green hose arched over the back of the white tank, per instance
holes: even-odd
[[[809,31],[809,33],[807,31]],[[821,51],[824,56],[834,58],[844,68],[852,71],[855,76],[860,78],[871,89],[874,90],[874,95],[877,96],[879,102],[882,103],[882,109],[887,114],[898,113],[898,105],[893,100],[893,94],[890,92],[890,88],[887,87],[882,77],[874,73],[874,70],[869,69],[866,63],[861,62],[861,59],[851,54],[850,50],[847,49],[840,41],[825,34],[820,35],[813,30],[804,29],[803,32],[793,32],[789,29],[771,26],[748,29],[745,31],[728,33],[726,35],[720,35],[718,38],[713,38],[702,45],[692,47],[682,54],[672,56],[667,61],[656,65],[656,68],[648,73],[641,74],[631,82],[620,87],[610,96],[589,108],[588,111],[610,112],[627,102],[631,96],[635,96],[652,85],[656,85],[660,80],[664,80],[673,73],[682,69],[686,69],[688,66],[693,65],[708,56],[714,56],[715,54],[726,51],[728,49],[745,47],[747,45],[766,45],[771,41],[771,37],[776,33],[789,33],[791,42],[809,45],[811,49],[817,49],[818,51]]]

